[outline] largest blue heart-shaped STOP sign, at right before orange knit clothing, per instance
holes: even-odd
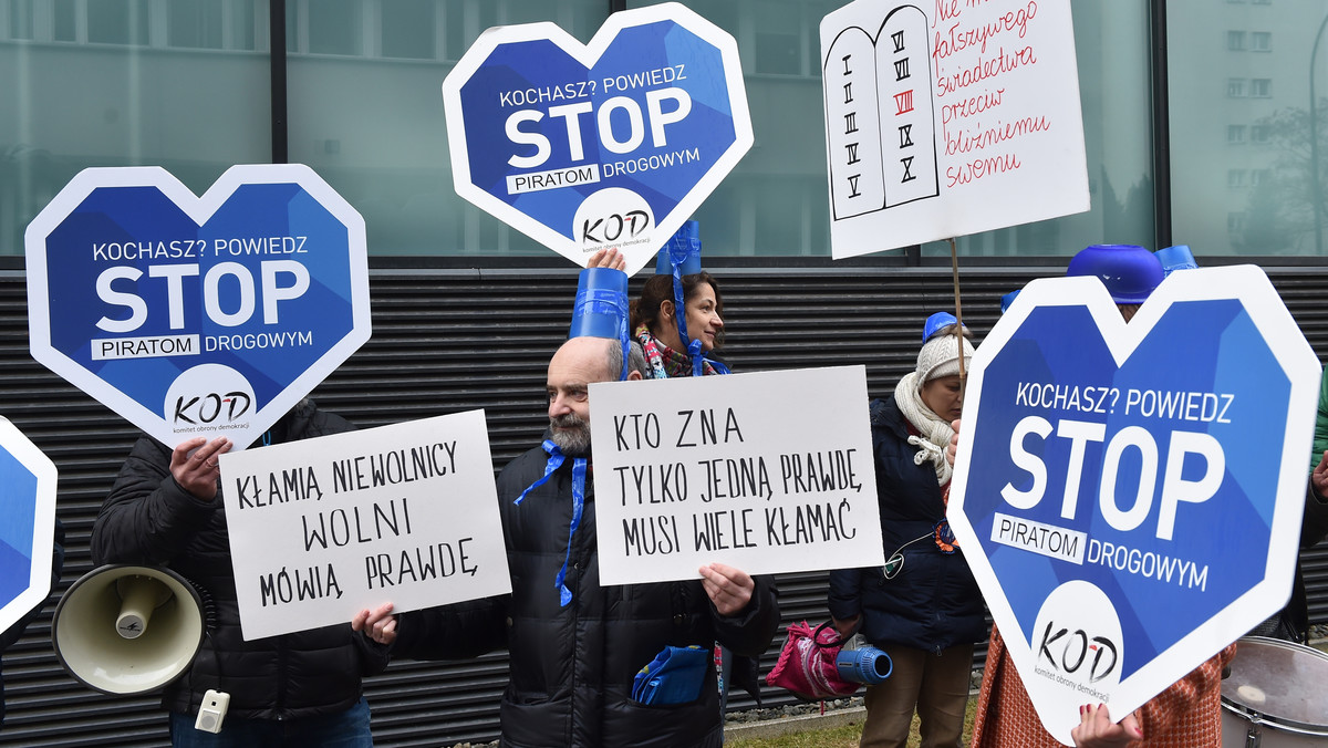
[[[1286,603],[1319,377],[1252,266],[1174,272],[1129,324],[1097,278],[1035,280],[979,347],[950,519],[1058,740]]]

